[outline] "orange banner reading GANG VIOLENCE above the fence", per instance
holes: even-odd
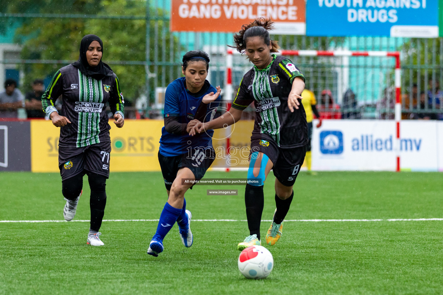
[[[306,34],[305,0],[171,0],[171,31],[238,32],[259,17],[273,34]]]

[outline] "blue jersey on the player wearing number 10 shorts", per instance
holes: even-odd
[[[215,93],[217,89],[207,80],[205,80],[202,89],[197,93],[189,92],[186,88],[185,77],[174,80],[166,88],[164,117],[178,117],[179,123],[189,123],[194,119],[203,96],[210,92]],[[220,96],[214,102],[208,103],[203,122],[214,119],[219,103]],[[190,148],[212,147],[213,134],[214,130],[207,130],[195,136],[171,134],[163,126],[160,138],[160,153],[165,157],[174,157],[186,154]]]

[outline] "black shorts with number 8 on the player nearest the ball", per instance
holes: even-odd
[[[282,149],[273,140],[253,139],[251,153],[262,152],[272,161],[274,176],[285,186],[293,186],[306,155],[306,146]]]

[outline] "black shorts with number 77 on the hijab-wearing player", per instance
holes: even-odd
[[[58,168],[62,180],[86,171],[109,178],[110,142],[100,142],[81,148],[58,147]]]

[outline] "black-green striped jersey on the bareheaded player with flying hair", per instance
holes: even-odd
[[[244,110],[254,102],[256,119],[253,138],[272,138],[281,148],[307,144],[307,122],[303,105],[291,112],[288,96],[295,77],[304,80],[300,70],[284,56],[272,55],[265,69],[254,66],[243,76],[232,107]]]

